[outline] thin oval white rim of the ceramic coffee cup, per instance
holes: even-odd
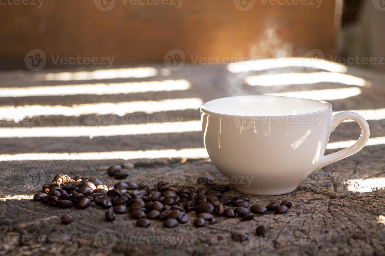
[[[231,117],[231,116],[239,116],[239,115],[231,115],[231,114],[223,114],[223,113],[218,113],[218,112],[214,112],[214,111],[209,111],[208,109],[206,109],[206,107],[204,106],[205,104],[208,104],[208,103],[211,103],[213,101],[218,101],[218,100],[221,100],[221,99],[229,99],[229,98],[236,98],[236,97],[248,97],[248,96],[258,96],[258,97],[283,97],[283,98],[291,98],[291,99],[301,99],[301,100],[304,100],[304,101],[313,101],[313,102],[321,102],[321,103],[324,103],[326,104],[328,107],[326,109],[323,109],[323,110],[320,110],[320,111],[315,111],[315,112],[309,112],[309,113],[305,113],[305,114],[296,114],[296,115],[280,115],[280,116],[266,116],[268,118],[276,118],[276,117],[294,117],[294,116],[310,116],[310,115],[314,115],[314,114],[320,114],[322,112],[328,112],[328,111],[332,111],[332,105],[329,103],[329,102],[326,102],[326,101],[317,101],[315,99],[304,99],[304,98],[298,98],[298,97],[287,97],[287,96],[276,96],[276,95],[239,95],[239,96],[230,96],[230,97],[222,97],[222,98],[218,98],[218,99],[213,99],[211,101],[206,101],[203,103],[203,105],[200,107],[200,111],[202,113],[206,113],[206,114],[210,114],[212,116],[216,115],[216,116],[227,116],[227,117]],[[263,117],[263,116],[249,116],[249,117]]]

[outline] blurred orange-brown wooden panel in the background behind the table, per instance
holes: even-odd
[[[115,5],[101,11],[100,1]],[[254,3],[248,11],[236,8],[238,0],[184,0],[181,5],[177,0],[169,0],[174,5],[110,1],[2,5],[0,68],[23,67],[24,56],[33,49],[47,56],[110,56],[114,65],[162,62],[172,49],[181,49],[187,62],[190,55],[271,58],[303,56],[312,49],[329,55],[335,53],[340,24],[333,0],[322,1],[319,8],[316,0],[307,1],[313,5],[240,0]]]

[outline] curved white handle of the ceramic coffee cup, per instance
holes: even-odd
[[[357,142],[351,145],[350,147],[347,147],[346,149],[340,150],[333,154],[324,155],[317,169],[321,169],[322,167],[328,164],[334,163],[338,160],[341,160],[353,154],[356,154],[365,146],[365,144],[368,142],[368,139],[369,139],[370,131],[369,131],[368,122],[359,114],[354,112],[341,112],[332,116],[331,120],[332,120],[332,125],[331,125],[330,132],[333,132],[341,122],[345,120],[353,120],[360,125],[361,134]]]

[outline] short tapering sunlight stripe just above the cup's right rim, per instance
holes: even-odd
[[[323,89],[323,90],[311,90],[311,91],[290,91],[290,92],[278,92],[269,93],[266,95],[297,97],[303,99],[314,99],[317,101],[322,100],[336,100],[346,99],[361,94],[361,89],[358,87],[350,88],[336,88],[336,89]]]

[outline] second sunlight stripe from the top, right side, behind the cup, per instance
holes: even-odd
[[[315,83],[340,83],[355,86],[367,86],[365,79],[357,76],[331,72],[313,73],[285,73],[285,74],[263,74],[248,76],[245,82],[251,86],[277,86],[291,84],[315,84]]]

